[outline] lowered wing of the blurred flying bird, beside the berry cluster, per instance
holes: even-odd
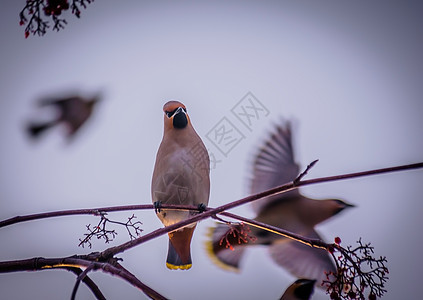
[[[321,239],[314,230],[306,236]],[[269,252],[278,265],[298,278],[317,280],[317,286],[327,280],[326,273],[336,271],[326,250],[312,248],[297,241],[280,239],[269,247]]]

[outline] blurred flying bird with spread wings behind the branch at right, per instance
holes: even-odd
[[[279,125],[264,143],[253,163],[250,193],[256,194],[293,181],[299,174],[292,148],[290,124]],[[315,200],[298,189],[252,202],[254,220],[270,224],[308,238],[320,239],[314,226],[352,205],[339,199]],[[244,225],[217,224],[207,242],[209,256],[219,266],[238,270],[245,246],[265,245],[272,259],[298,278],[326,279],[325,272],[335,272],[325,250],[311,248],[266,230],[250,227],[255,241],[242,237]],[[230,245],[230,246],[228,246]]]

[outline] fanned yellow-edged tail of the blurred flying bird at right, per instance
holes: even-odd
[[[240,236],[243,225],[226,225],[217,223],[209,228],[209,239],[206,242],[207,254],[218,267],[239,272],[239,264],[243,257],[248,240]]]

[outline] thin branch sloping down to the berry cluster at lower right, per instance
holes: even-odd
[[[328,273],[327,280],[323,281],[322,285],[326,286],[326,292],[331,299],[365,299],[364,292],[367,289],[370,289],[369,299],[376,299],[376,296],[382,297],[386,293],[384,284],[388,280],[387,274],[389,274],[389,270],[385,266],[386,257],[373,257],[374,248],[370,246],[370,243],[363,244],[361,238],[357,241],[358,247],[347,246],[343,248],[340,246],[341,239],[339,237],[335,238],[335,244],[328,244],[319,239],[305,238],[287,230],[232,213],[223,212],[221,215],[242,221],[243,225],[245,223],[296,240],[310,247],[328,251],[335,261],[337,272],[336,274]],[[228,226],[229,231],[221,240],[221,243],[226,242],[226,248],[233,250],[233,245],[230,244],[228,239],[231,234],[238,237],[238,244],[245,244],[252,240],[248,235],[248,230],[242,229],[234,232],[232,228],[235,227]],[[242,226],[242,228],[244,227]],[[247,235],[245,235],[245,232]]]

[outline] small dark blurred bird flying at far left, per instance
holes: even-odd
[[[31,122],[27,127],[28,133],[31,137],[38,138],[47,129],[58,124],[64,124],[68,130],[67,136],[71,138],[90,118],[94,106],[99,100],[100,95],[90,99],[79,96],[42,99],[39,105],[41,107],[55,107],[58,111],[57,117],[48,122]]]

